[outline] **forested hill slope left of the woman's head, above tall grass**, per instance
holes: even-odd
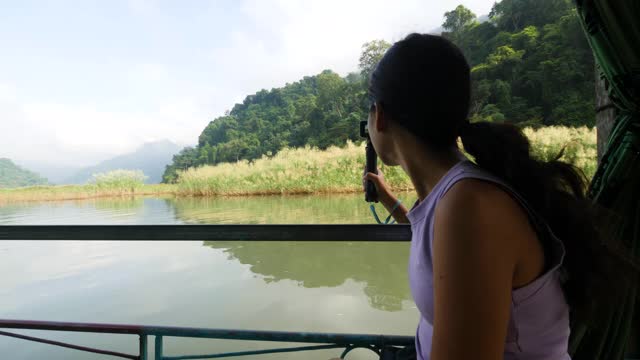
[[[365,109],[366,92],[359,74],[343,78],[325,70],[283,88],[259,91],[211,121],[197,147],[174,156],[164,180],[174,182],[178,170],[258,159],[285,147],[326,149],[356,141]]]

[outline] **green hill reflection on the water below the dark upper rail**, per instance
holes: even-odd
[[[296,281],[305,288],[336,287],[353,279],[365,283],[369,304],[378,310],[402,310],[410,300],[408,244],[337,242],[211,242],[230,260],[250,265],[266,283]]]

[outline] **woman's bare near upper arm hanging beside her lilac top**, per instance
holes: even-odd
[[[431,360],[503,358],[518,258],[510,223],[521,225],[511,221],[514,209],[507,194],[477,180],[457,183],[438,204]]]

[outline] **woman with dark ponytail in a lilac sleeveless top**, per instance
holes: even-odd
[[[591,311],[606,279],[584,175],[531,158],[516,127],[469,123],[470,89],[461,51],[432,35],[394,44],[370,78],[373,146],[419,198],[392,214],[413,232],[417,358],[570,359],[569,315]],[[365,180],[391,211],[382,173]]]

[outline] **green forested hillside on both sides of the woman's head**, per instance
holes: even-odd
[[[472,121],[522,126],[593,126],[594,63],[570,0],[502,0],[488,21],[460,5],[442,25],[472,66]],[[363,45],[360,73],[325,70],[247,96],[174,155],[163,181],[180,170],[273,156],[285,147],[319,149],[359,142],[366,119],[366,79],[389,44]]]

